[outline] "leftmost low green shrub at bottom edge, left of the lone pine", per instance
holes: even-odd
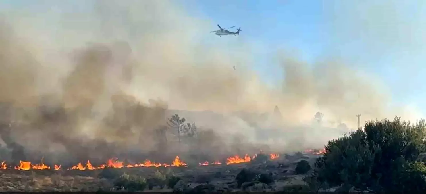
[[[123,174],[117,180],[114,181],[114,187],[124,188],[127,191],[143,191],[147,186],[147,180],[144,177],[131,176],[128,174]]]

